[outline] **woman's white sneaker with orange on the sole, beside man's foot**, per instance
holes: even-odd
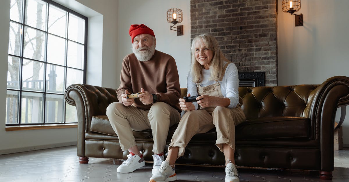
[[[163,161],[159,170],[155,175],[151,176],[149,182],[169,182],[177,180],[174,169],[170,166],[168,161]]]

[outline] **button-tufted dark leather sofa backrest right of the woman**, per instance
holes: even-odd
[[[271,116],[304,117],[311,92],[318,85],[239,87],[246,120]]]

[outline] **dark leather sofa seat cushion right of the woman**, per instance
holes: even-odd
[[[235,128],[235,139],[258,140],[310,137],[311,121],[305,117],[261,117],[245,121]]]

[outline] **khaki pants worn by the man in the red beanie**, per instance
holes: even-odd
[[[154,140],[153,152],[163,152],[169,127],[180,120],[179,112],[163,102],[154,103],[149,111],[115,102],[107,107],[106,114],[119,137],[122,151],[136,145],[132,130],[151,129]]]

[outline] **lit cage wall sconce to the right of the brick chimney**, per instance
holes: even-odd
[[[296,15],[293,13],[298,12],[300,10],[300,0],[282,0],[281,6],[283,12],[290,13],[291,15]],[[295,16],[295,21],[296,26],[303,26],[302,13],[300,15]]]

